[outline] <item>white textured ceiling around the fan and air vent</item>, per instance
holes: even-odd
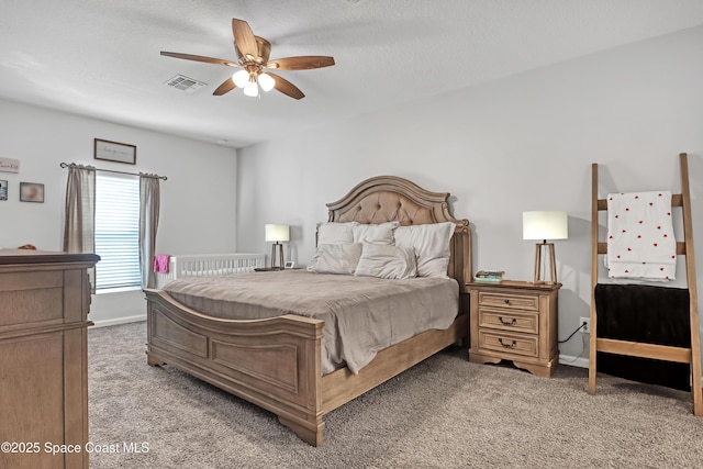
[[[0,0],[0,97],[242,147],[703,24],[701,0]],[[306,96],[212,91],[234,69],[232,18]],[[177,74],[207,86],[165,86]],[[226,143],[223,143],[226,141]]]

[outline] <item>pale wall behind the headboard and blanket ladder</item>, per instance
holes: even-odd
[[[592,163],[602,165],[601,197],[676,192],[678,154],[688,152],[703,248],[701,49],[698,27],[244,148],[238,248],[267,252],[264,224],[289,223],[287,257],[306,264],[325,203],[368,177],[395,175],[454,196],[455,216],[471,222],[476,269],[528,280],[534,242],[522,239],[522,212],[566,210],[569,239],[555,242],[566,338],[590,312]],[[696,264],[701,284],[700,256]],[[578,337],[560,346],[562,359],[588,358]]]

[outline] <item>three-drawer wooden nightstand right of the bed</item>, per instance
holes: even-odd
[[[503,280],[469,282],[469,361],[511,360],[549,378],[559,362],[558,294],[561,283]]]

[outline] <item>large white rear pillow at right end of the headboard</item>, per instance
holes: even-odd
[[[451,248],[453,222],[432,223],[395,228],[395,246],[415,249],[417,277],[447,277]]]

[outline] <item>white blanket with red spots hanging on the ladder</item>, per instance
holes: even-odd
[[[677,243],[671,192],[607,196],[607,275],[611,278],[673,280]]]

